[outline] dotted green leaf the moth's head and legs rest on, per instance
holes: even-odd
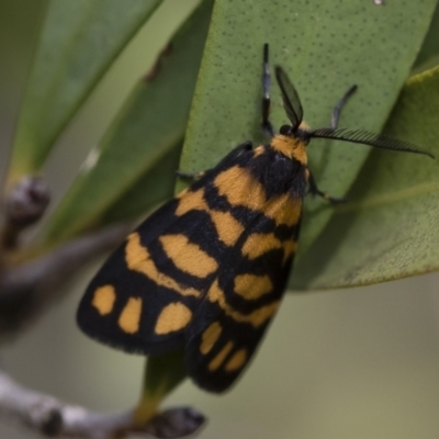
[[[357,83],[340,126],[379,131],[408,76],[437,0],[222,0],[215,3],[205,56],[187,132],[185,171],[212,167],[234,146],[261,139],[262,45],[271,63],[289,72],[312,127],[328,125],[334,104]],[[272,85],[272,121],[286,122]],[[344,195],[370,148],[314,140],[311,168],[319,187]],[[307,201],[301,251],[320,233],[334,210]]]

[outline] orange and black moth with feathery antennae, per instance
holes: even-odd
[[[212,392],[227,390],[252,358],[274,316],[297,248],[303,200],[322,192],[308,169],[313,137],[428,153],[363,131],[311,131],[299,94],[275,68],[289,125],[269,122],[268,46],[262,127],[267,145],[246,142],[128,235],[88,286],[78,323],[89,336],[130,352],[184,348],[188,374]]]

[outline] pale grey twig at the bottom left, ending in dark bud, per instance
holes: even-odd
[[[0,414],[45,437],[116,439],[131,434],[147,438],[182,438],[200,431],[203,415],[190,407],[158,414],[146,426],[134,425],[134,410],[105,415],[66,404],[50,395],[25,389],[0,370]]]

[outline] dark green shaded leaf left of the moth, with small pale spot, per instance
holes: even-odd
[[[184,135],[212,4],[211,0],[201,3],[150,75],[135,87],[49,218],[44,244],[111,219],[133,218],[172,193],[176,154]]]

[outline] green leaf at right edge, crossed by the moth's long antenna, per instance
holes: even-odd
[[[350,202],[294,268],[293,286],[383,282],[439,269],[439,66],[412,77],[385,126],[436,155],[373,151]]]

